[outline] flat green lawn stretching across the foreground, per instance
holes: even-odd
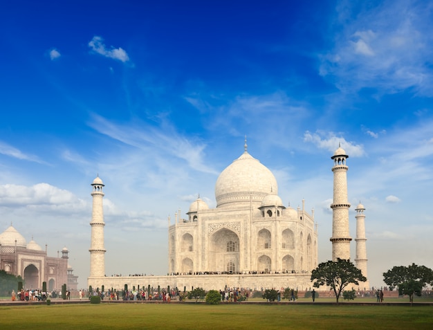
[[[433,307],[38,304],[0,306],[0,329],[433,329]]]

